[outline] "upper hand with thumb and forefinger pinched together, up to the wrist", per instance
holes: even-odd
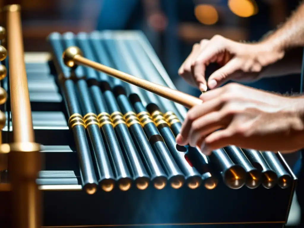
[[[277,50],[271,43],[240,43],[216,35],[193,46],[178,74],[191,85],[206,91],[205,69],[209,63],[220,66],[208,79],[208,87],[213,89],[228,80],[255,81],[264,67],[283,57],[284,51]]]

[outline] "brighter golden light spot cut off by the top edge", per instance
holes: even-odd
[[[228,0],[229,9],[239,17],[250,17],[258,12],[254,0]]]

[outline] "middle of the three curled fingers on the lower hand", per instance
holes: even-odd
[[[225,128],[227,122],[229,121],[220,112],[211,112],[206,116],[198,118],[192,123],[189,131],[189,145],[195,147],[202,137]]]

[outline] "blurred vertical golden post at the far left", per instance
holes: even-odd
[[[41,227],[41,193],[36,184],[40,171],[40,146],[34,141],[33,121],[24,62],[19,5],[4,8],[7,23],[9,83],[13,143],[8,154],[12,190],[11,216],[14,228]]]

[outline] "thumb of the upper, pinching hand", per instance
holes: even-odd
[[[213,72],[208,79],[208,87],[214,89],[232,79],[233,73],[241,68],[241,61],[237,58],[231,59],[223,67]]]

